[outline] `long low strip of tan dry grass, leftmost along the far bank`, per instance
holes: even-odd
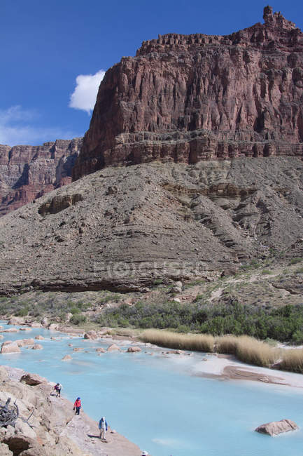
[[[209,334],[183,334],[148,329],[140,335],[143,342],[180,350],[213,351],[215,338]]]

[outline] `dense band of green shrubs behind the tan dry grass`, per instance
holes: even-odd
[[[225,304],[178,302],[153,304],[138,302],[106,309],[99,317],[102,326],[172,329],[178,332],[249,335],[299,344],[303,332],[303,306],[286,305],[278,309],[248,306],[233,301]]]

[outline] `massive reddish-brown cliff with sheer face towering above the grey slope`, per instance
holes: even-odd
[[[302,156],[303,34],[270,7],[264,20],[159,36],[108,69],[73,179],[153,160]]]

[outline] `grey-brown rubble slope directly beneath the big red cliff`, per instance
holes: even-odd
[[[302,257],[302,215],[299,157],[104,168],[1,217],[0,294],[143,290]]]

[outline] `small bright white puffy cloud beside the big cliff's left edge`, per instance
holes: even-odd
[[[71,94],[69,107],[74,109],[82,109],[90,114],[94,109],[98,88],[100,82],[104,78],[105,72],[100,69],[96,74],[79,74],[76,77],[76,88]]]

